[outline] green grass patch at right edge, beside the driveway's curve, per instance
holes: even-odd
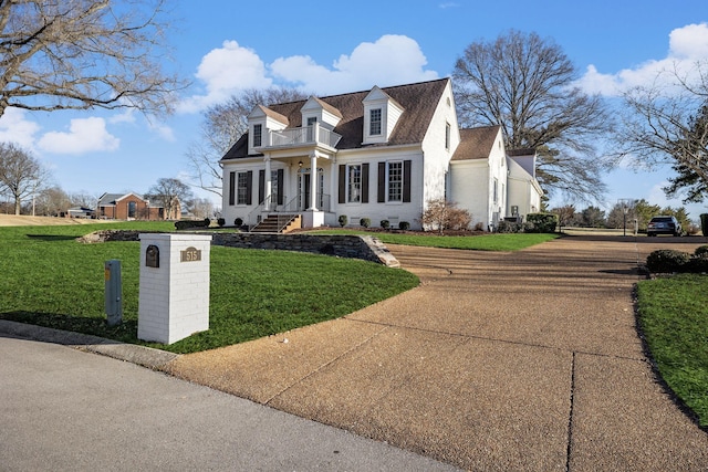
[[[638,284],[639,326],[666,384],[708,427],[708,276]]]

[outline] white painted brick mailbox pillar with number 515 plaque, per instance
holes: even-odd
[[[140,234],[137,337],[173,344],[209,329],[211,235]]]

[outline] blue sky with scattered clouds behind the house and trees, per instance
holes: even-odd
[[[170,7],[167,67],[192,81],[175,115],[158,122],[125,111],[9,109],[0,140],[30,149],[67,192],[142,193],[160,177],[186,177],[201,111],[243,88],[285,85],[327,95],[445,77],[469,43],[510,29],[555,41],[583,74],[580,83],[608,96],[654,78],[662,64],[708,59],[705,0],[175,0]],[[620,198],[680,206],[660,191],[669,171],[606,175],[606,207]],[[688,209],[696,219],[706,206]]]

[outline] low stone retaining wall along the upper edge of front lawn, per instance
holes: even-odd
[[[145,231],[103,230],[77,238],[80,242],[138,241]],[[201,233],[200,233],[201,234]],[[271,234],[214,232],[211,244],[243,249],[310,252],[337,258],[363,259],[389,268],[400,264],[377,238],[348,234]]]

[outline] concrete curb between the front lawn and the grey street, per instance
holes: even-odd
[[[121,343],[118,340],[81,333],[27,325],[8,319],[0,319],[0,335],[11,335],[25,339],[70,346],[80,350],[137,364],[153,370],[163,370],[165,365],[179,357],[178,354],[167,353],[152,347]]]

